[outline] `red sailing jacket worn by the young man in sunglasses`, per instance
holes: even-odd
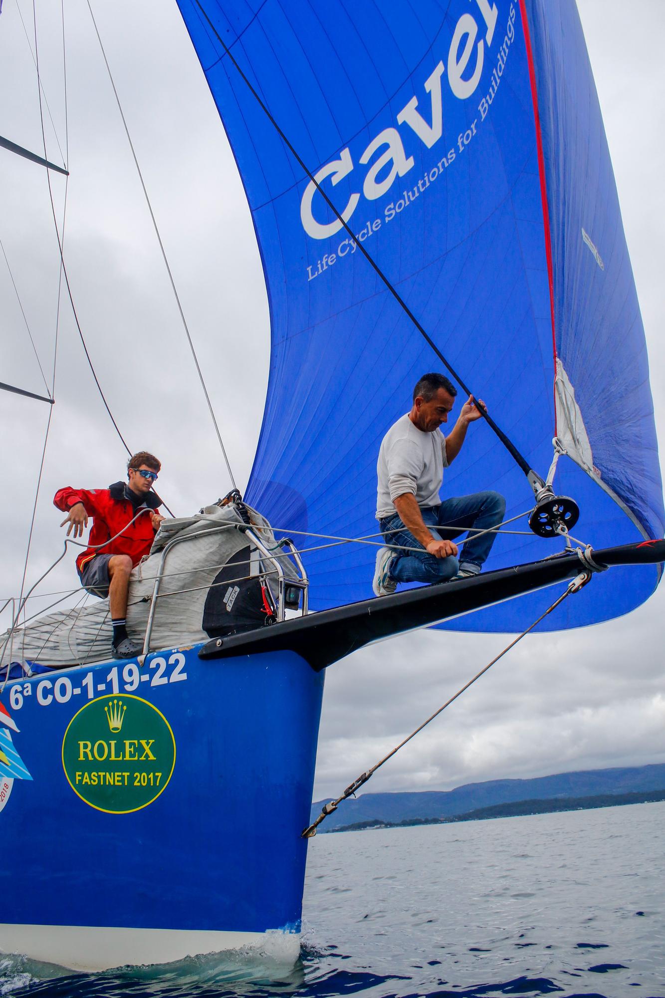
[[[93,525],[88,538],[90,547],[76,559],[76,567],[81,572],[95,555],[129,555],[133,565],[138,565],[144,555],[147,555],[155,540],[155,530],[150,519],[151,510],[162,505],[160,497],[153,492],[146,493],[145,506],[137,510],[141,515],[131,523],[136,515],[132,503],[125,498],[125,483],[115,482],[108,489],[73,489],[66,486],[59,489],[53,499],[54,506],[68,513],[77,502],[82,502],[88,516],[93,517]],[[109,538],[115,537],[124,527],[127,529],[120,537],[110,544],[105,544]],[[104,547],[94,547],[102,544]]]

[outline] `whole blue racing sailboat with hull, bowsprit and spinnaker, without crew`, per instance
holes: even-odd
[[[103,621],[68,632],[70,662],[24,654],[27,625],[7,636],[0,949],[81,969],[273,937],[295,956],[326,669],[425,626],[523,631],[571,582],[541,628],[608,620],[665,560],[644,333],[574,6],[179,8],[252,211],[270,382],[245,496],[173,523],[135,580],[142,656],[100,659]],[[477,578],[377,600],[378,443],[433,368],[498,402],[446,489],[500,490],[524,531]],[[205,545],[178,571],[210,572],[218,542],[179,634],[170,556]],[[268,588],[273,620],[236,619],[238,580],[248,601]]]

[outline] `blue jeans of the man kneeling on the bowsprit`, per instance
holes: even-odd
[[[488,530],[498,526],[505,514],[505,499],[498,492],[475,492],[470,496],[446,499],[440,506],[420,510],[422,519],[433,528],[436,537],[453,541],[471,527],[474,530]],[[437,530],[438,527],[452,529]],[[404,527],[395,513],[380,521],[379,528],[388,547],[395,545],[416,548],[415,551],[395,552],[388,575],[395,582],[445,582],[457,574],[459,567],[470,572],[479,572],[489,554],[495,532],[476,537],[471,534],[464,542],[459,559],[434,558]]]

